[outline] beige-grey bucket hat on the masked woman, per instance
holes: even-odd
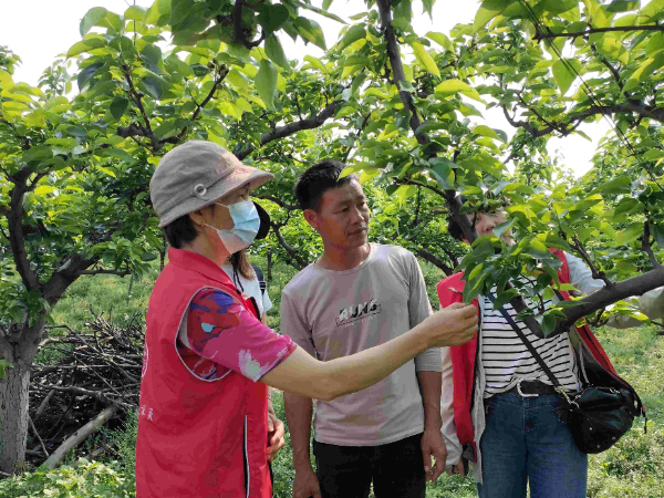
[[[220,145],[189,141],[168,152],[149,181],[149,197],[165,227],[247,184],[258,188],[274,175],[242,164]]]

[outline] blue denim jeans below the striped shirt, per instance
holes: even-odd
[[[577,448],[557,395],[496,394],[485,400],[484,483],[479,498],[585,498],[588,456]]]

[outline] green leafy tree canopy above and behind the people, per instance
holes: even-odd
[[[0,48],[6,362],[32,362],[52,308],[79,278],[139,278],[164,261],[148,181],[163,154],[193,138],[274,173],[256,193],[273,218],[257,247],[266,257],[299,269],[320,251],[292,216],[292,187],[305,167],[332,157],[365,184],[380,240],[452,272],[464,249],[445,234],[444,216],[459,222],[473,241],[459,267],[465,300],[497,283],[499,300],[533,314],[529,326],[544,333],[585,315],[602,323],[616,302],[611,312],[643,319],[621,300],[623,280],[637,279],[640,291],[664,284],[662,1],[487,0],[474,23],[423,34],[411,0],[369,0],[329,46],[307,15],[345,22],[330,3],[92,8],[81,41],[38,86],[13,80],[20,60]],[[291,61],[283,33],[326,52]],[[502,108],[518,129],[511,139],[481,122],[483,105]],[[574,180],[549,157],[547,139],[580,134],[600,116],[614,131],[593,170]],[[494,235],[511,228],[517,243],[476,240],[464,212],[505,206],[508,224]],[[608,288],[573,308],[527,309],[523,297],[551,292],[559,263],[550,248],[582,256]],[[521,272],[536,283],[512,287]]]

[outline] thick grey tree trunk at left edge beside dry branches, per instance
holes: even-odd
[[[0,381],[0,470],[22,470],[28,440],[30,365],[15,362]]]

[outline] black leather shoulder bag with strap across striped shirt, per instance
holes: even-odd
[[[496,298],[489,293],[491,302]],[[563,406],[564,422],[572,432],[577,447],[583,453],[602,453],[613,446],[630,428],[634,417],[643,411],[643,405],[634,390],[620,386],[613,378],[606,378],[610,386],[589,384],[578,393],[566,393],[556,375],[547,366],[526,334],[515,323],[509,313],[501,307],[498,311],[511,325],[519,339],[542,367],[553,387],[566,402]],[[583,361],[583,359],[579,359]],[[602,369],[609,376],[609,373]]]

